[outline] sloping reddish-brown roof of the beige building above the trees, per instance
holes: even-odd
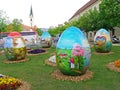
[[[87,2],[83,7],[81,7],[69,20],[71,20],[72,18],[74,18],[75,16],[77,16],[78,14],[82,13],[84,10],[86,10],[89,6],[91,6],[92,4],[94,4],[96,1],[98,0],[90,0],[89,2]]]

